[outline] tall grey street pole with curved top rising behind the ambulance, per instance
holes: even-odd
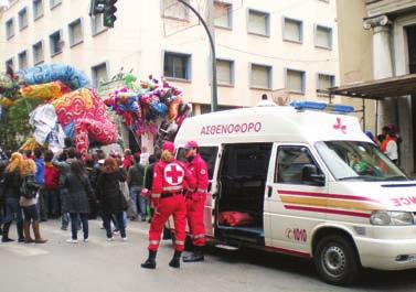
[[[209,36],[210,44],[211,44],[211,63],[212,63],[212,82],[211,82],[211,111],[216,111],[217,110],[217,82],[216,82],[216,54],[215,54],[215,42],[214,42],[214,36],[213,36],[213,7],[214,7],[214,1],[213,0],[206,0],[206,10],[207,10],[207,22],[204,20],[204,18],[194,9],[190,3],[188,3],[185,0],[178,0],[180,3],[184,4],[188,7],[201,21],[202,26],[204,26],[205,32]]]

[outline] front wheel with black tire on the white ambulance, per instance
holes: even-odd
[[[329,284],[348,285],[361,273],[361,263],[351,240],[340,235],[326,236],[314,248],[313,261],[319,275]]]

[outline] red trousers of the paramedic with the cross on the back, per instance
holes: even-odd
[[[150,251],[158,250],[163,226],[171,215],[173,215],[174,220],[174,249],[178,251],[183,251],[186,237],[186,203],[182,195],[160,199],[159,206],[151,219],[149,229]]]

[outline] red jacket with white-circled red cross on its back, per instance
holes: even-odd
[[[154,206],[158,206],[162,194],[180,193],[185,186],[195,188],[196,182],[186,165],[182,162],[178,160],[171,162],[159,161],[154,165],[153,185],[151,190]]]

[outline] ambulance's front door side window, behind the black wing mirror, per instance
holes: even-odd
[[[306,147],[279,147],[277,152],[275,182],[281,184],[309,185],[310,183],[307,182],[303,176],[306,175],[306,169],[311,165],[317,167],[319,174],[322,173]]]

